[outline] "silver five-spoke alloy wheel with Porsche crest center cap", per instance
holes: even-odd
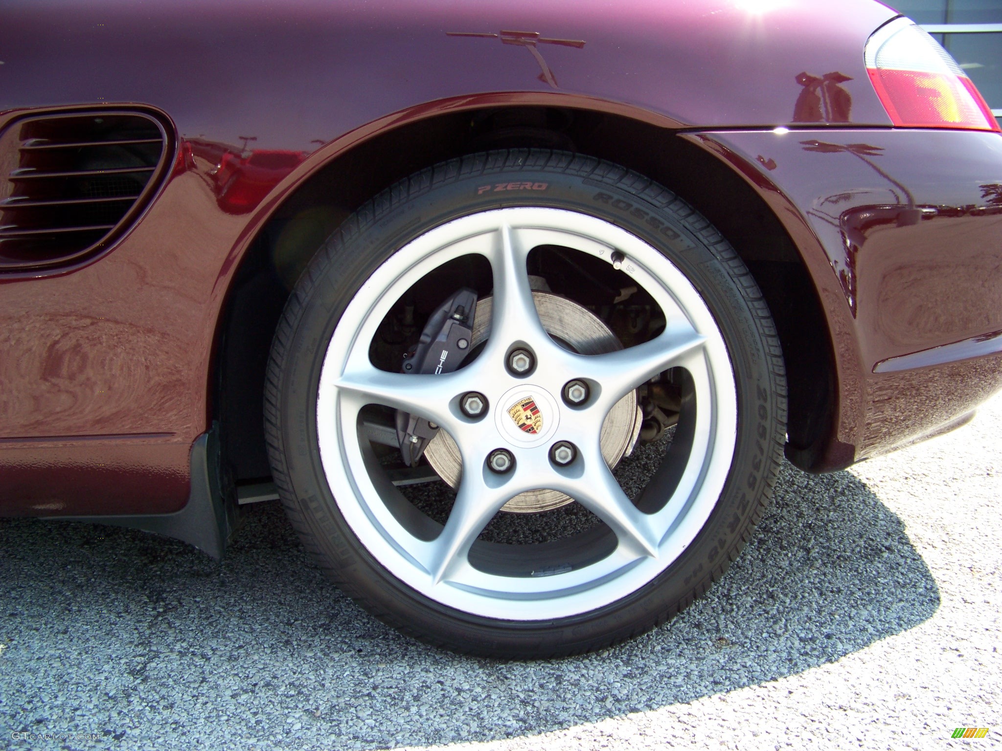
[[[602,354],[579,354],[551,337],[537,314],[527,258],[557,245],[625,272],[663,312],[653,338]],[[464,255],[482,255],[493,277],[491,328],[483,348],[453,372],[405,374],[373,364],[381,321],[419,279]],[[531,352],[529,374],[513,372],[513,349]],[[682,368],[695,409],[683,467],[670,498],[641,511],[620,488],[602,455],[609,411],[668,368]],[[562,397],[572,381],[587,399]],[[471,392],[488,410],[461,409]],[[575,392],[578,395],[578,392]],[[538,430],[520,430],[509,410],[530,399]],[[382,405],[421,416],[445,431],[461,455],[456,498],[444,526],[415,529],[395,511],[396,490],[379,472],[361,416]],[[541,621],[588,613],[622,599],[665,571],[693,542],[724,488],[734,454],[737,397],[723,336],[688,278],[665,255],[597,216],[560,208],[515,206],[447,221],[408,242],[361,285],[334,329],[317,392],[317,441],[323,473],[352,533],[393,577],[421,595],[474,616]],[[573,447],[554,461],[558,444]],[[562,447],[561,447],[562,449]],[[498,472],[489,457],[514,459]],[[614,534],[597,560],[548,565],[529,575],[493,566],[488,547],[471,550],[485,526],[519,494],[555,491],[574,499]]]

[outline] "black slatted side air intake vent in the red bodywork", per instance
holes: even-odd
[[[45,268],[106,247],[164,173],[167,138],[151,115],[45,114],[0,134],[0,271]]]

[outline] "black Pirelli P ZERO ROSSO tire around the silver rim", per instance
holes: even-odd
[[[545,191],[485,185],[546,183]],[[724,490],[692,544],[623,599],[548,622],[499,621],[435,602],[370,555],[346,523],[321,466],[318,382],[327,342],[355,291],[386,258],[429,228],[475,211],[537,205],[590,213],[665,254],[696,287],[723,334],[737,394],[737,438]],[[636,172],[548,150],[479,153],[402,180],[356,211],[319,249],[275,334],[266,431],[283,504],[313,560],[385,623],[438,647],[501,658],[600,649],[664,623],[726,571],[776,484],[787,424],[786,378],[770,311],[750,272],[691,206]]]

